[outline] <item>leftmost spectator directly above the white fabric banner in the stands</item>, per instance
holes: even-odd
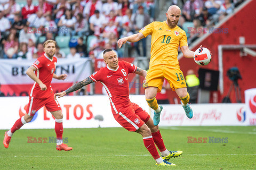
[[[7,40],[4,41],[4,58],[17,58],[19,43],[14,33],[10,33]]]

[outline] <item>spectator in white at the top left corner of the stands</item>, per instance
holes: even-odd
[[[20,14],[20,5],[15,2],[15,0],[10,0],[9,3],[4,5],[4,14],[6,14],[7,19],[11,23],[14,22],[14,15]]]

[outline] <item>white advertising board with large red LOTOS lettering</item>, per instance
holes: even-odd
[[[132,102],[149,109],[144,95],[130,96]],[[10,129],[26,112],[28,97],[0,97],[0,129]],[[113,117],[108,96],[65,96],[58,99],[63,113],[64,128],[121,127]],[[101,115],[103,121],[94,117]],[[22,129],[51,129],[55,121],[50,112],[41,108]]]

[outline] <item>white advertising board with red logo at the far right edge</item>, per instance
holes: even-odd
[[[256,88],[244,91],[246,121],[250,125],[256,125]]]

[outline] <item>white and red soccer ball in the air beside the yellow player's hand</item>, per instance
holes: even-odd
[[[194,54],[194,60],[198,65],[207,65],[210,63],[212,53],[207,48],[198,48]]]

